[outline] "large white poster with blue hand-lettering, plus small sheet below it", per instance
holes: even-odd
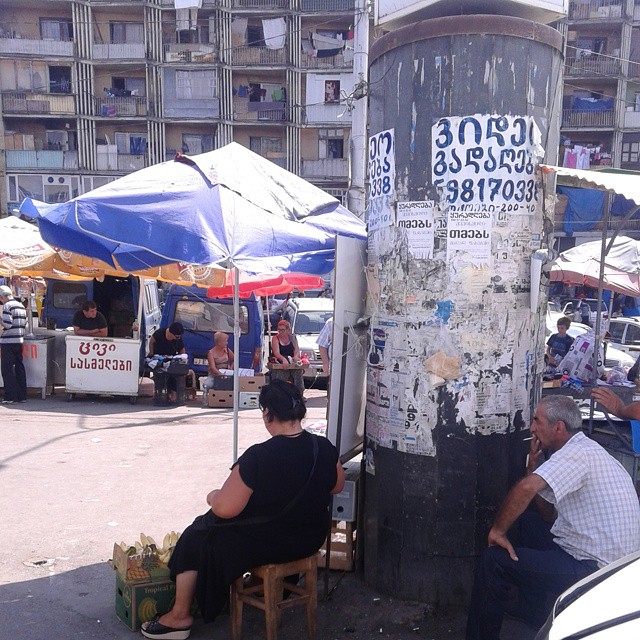
[[[536,211],[541,139],[531,116],[476,114],[433,125],[432,181],[448,209],[448,259],[462,252],[475,266],[489,265],[493,225]]]

